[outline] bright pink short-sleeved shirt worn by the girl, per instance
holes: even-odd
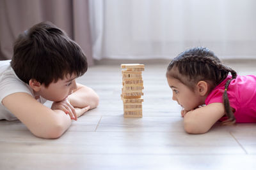
[[[205,104],[223,103],[222,96],[225,83],[232,76],[228,76],[205,99]],[[228,86],[228,99],[230,106],[236,111],[234,113],[237,123],[256,122],[256,76],[237,76],[231,80]],[[227,118],[221,118],[223,121]]]

